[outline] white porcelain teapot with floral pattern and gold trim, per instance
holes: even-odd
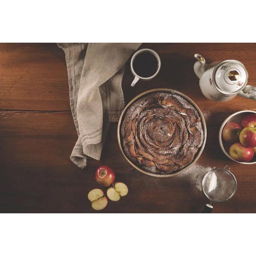
[[[204,57],[195,54],[194,64],[202,93],[207,99],[225,102],[236,95],[256,100],[256,87],[247,85],[248,73],[240,61],[226,60],[211,64]]]

